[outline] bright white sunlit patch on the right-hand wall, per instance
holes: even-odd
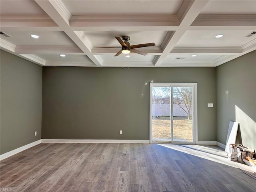
[[[236,122],[240,124],[244,146],[256,149],[256,122],[235,105]]]

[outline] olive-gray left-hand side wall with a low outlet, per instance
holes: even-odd
[[[4,154],[41,139],[42,66],[3,50],[0,63],[0,154]]]

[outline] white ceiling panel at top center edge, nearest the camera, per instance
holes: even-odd
[[[147,15],[176,14],[181,0],[171,1],[82,1],[64,0],[72,15]]]

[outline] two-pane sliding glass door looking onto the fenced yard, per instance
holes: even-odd
[[[150,142],[195,143],[196,83],[150,83]]]

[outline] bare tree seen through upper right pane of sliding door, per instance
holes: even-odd
[[[174,87],[173,103],[177,104],[192,119],[192,87]]]

